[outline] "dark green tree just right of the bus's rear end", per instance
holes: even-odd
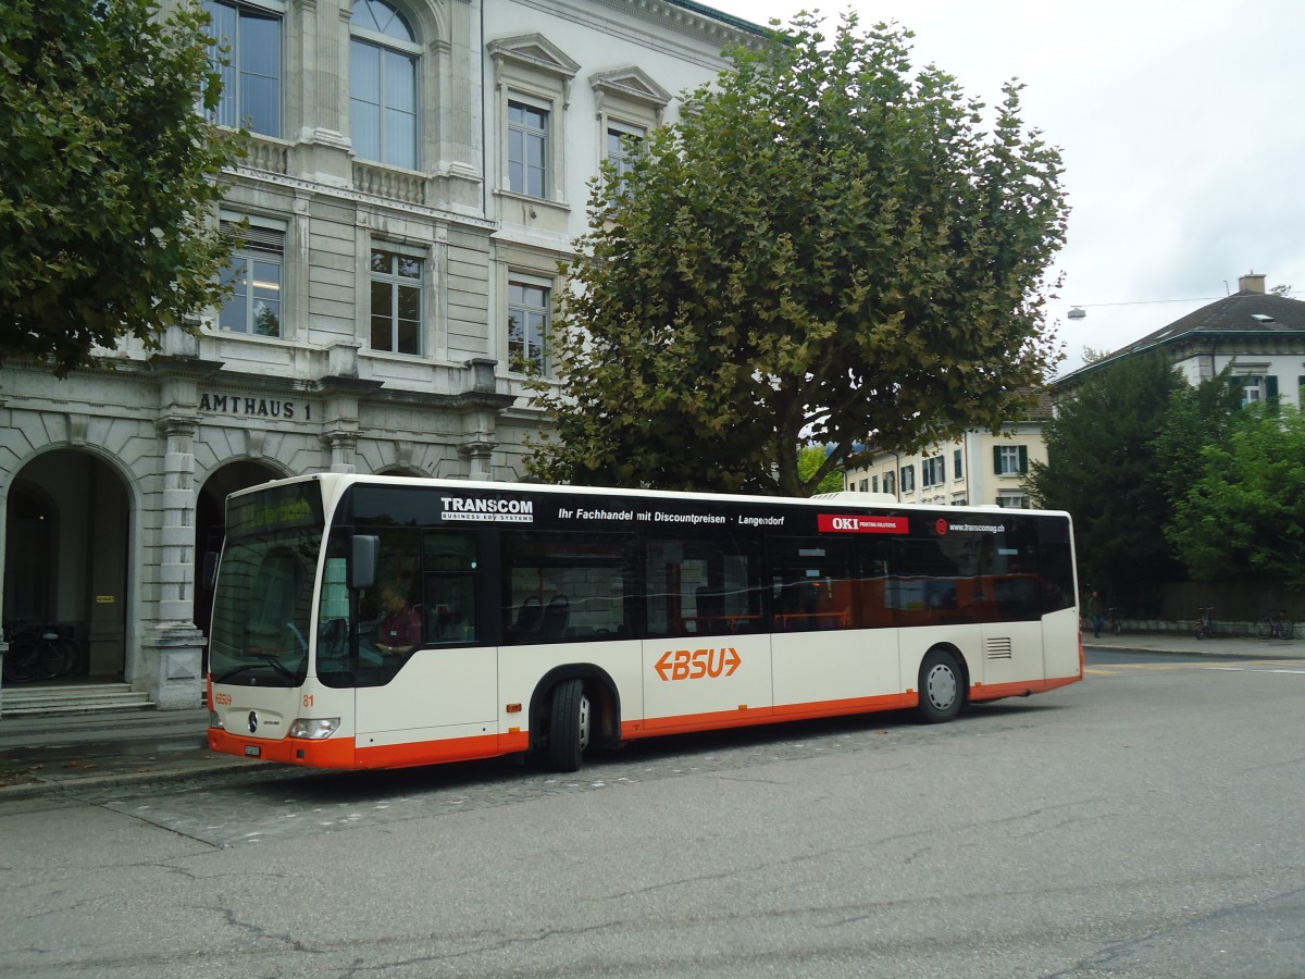
[[[1147,611],[1159,582],[1181,576],[1164,536],[1167,457],[1158,448],[1174,392],[1186,388],[1164,352],[1086,377],[1043,427],[1045,463],[1027,480],[1039,506],[1074,517],[1081,581],[1129,611]]]

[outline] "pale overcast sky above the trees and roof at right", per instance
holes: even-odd
[[[917,64],[989,104],[1024,82],[1023,119],[1061,149],[1073,208],[1048,315],[1062,373],[1251,270],[1305,299],[1301,0],[706,3],[754,23],[804,8],[897,21]],[[1087,316],[1069,320],[1074,305]]]

